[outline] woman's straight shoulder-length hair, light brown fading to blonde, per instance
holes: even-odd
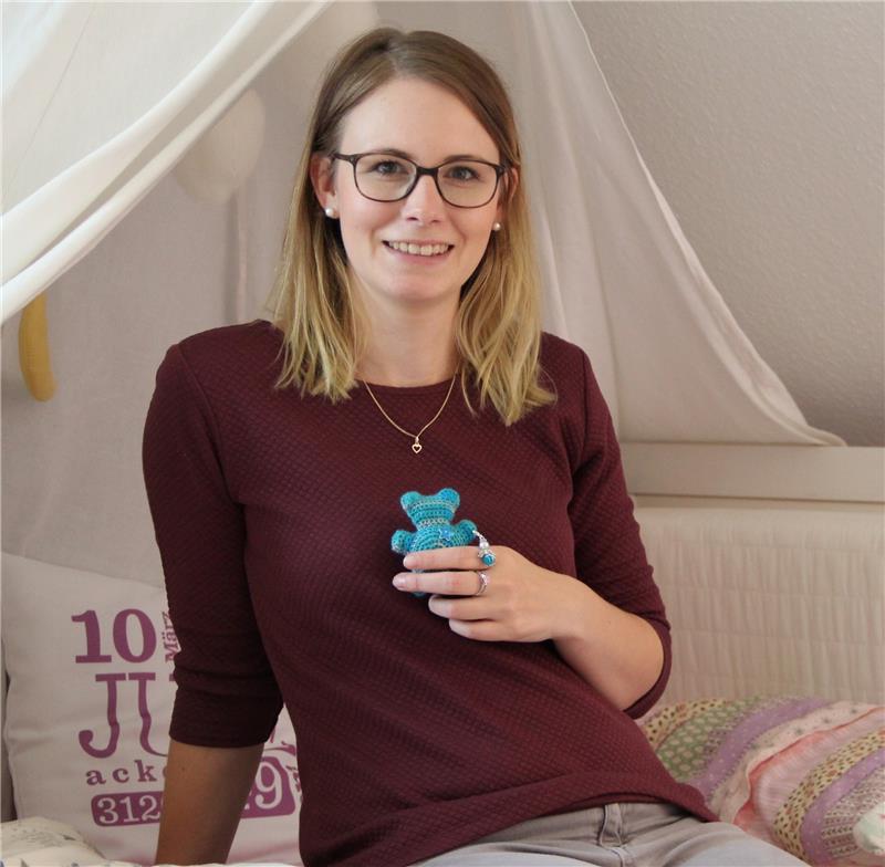
[[[266,310],[284,335],[285,358],[277,388],[299,386],[302,396],[332,403],[357,384],[366,345],[366,318],[350,282],[337,221],[326,219],[310,179],[311,157],[340,146],[347,113],[395,77],[445,87],[476,115],[508,169],[521,166],[510,101],[491,66],[467,45],[442,33],[378,28],[345,46],[326,72],[295,177],[277,274]],[[538,270],[524,181],[502,176],[503,229],[461,288],[456,323],[461,390],[468,377],[504,425],[555,396],[540,382],[541,313]],[[510,182],[507,182],[507,180]],[[279,357],[279,356],[278,356]]]

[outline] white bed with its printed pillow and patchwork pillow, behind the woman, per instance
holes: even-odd
[[[623,457],[673,624],[673,676],[638,721],[662,760],[810,864],[885,865],[885,449]],[[149,863],[176,649],[162,587],[4,554],[2,637],[3,864]],[[293,863],[296,758],[281,718],[231,860]]]

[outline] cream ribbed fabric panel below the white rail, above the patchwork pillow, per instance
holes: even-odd
[[[885,702],[883,512],[639,506],[673,627],[662,702]]]

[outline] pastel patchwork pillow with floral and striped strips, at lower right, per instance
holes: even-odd
[[[639,722],[670,773],[722,821],[815,867],[885,865],[885,708],[701,699]]]

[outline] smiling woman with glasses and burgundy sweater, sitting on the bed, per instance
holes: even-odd
[[[158,861],[227,857],[284,701],[309,867],[799,864],[715,822],[631,719],[669,627],[590,363],[540,331],[520,166],[482,59],[367,33],[319,96],[273,322],[160,365]],[[399,497],[445,487],[492,556],[400,560]]]

